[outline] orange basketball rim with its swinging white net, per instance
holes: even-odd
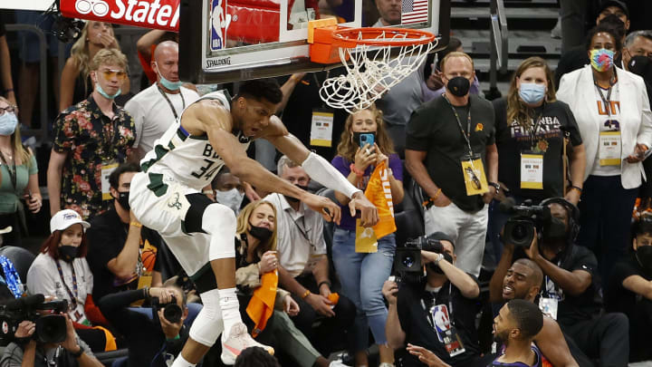
[[[358,44],[352,48],[340,47],[340,60],[347,69],[344,75],[327,79],[320,89],[321,100],[335,109],[349,113],[368,108],[391,87],[405,79],[425,62],[427,53],[436,47],[434,42],[392,46],[394,42],[426,39],[414,38],[407,33],[388,31],[379,33],[373,40],[388,45]],[[359,34],[359,40],[362,34]],[[346,61],[349,54],[350,60]]]

